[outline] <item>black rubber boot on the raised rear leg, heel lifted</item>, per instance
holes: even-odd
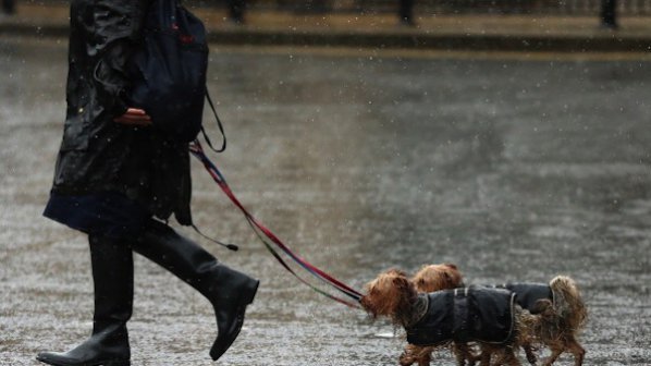
[[[218,328],[210,356],[212,359],[221,357],[239,334],[246,306],[254,301],[259,281],[219,264],[201,246],[155,220],[133,243],[133,249],[168,269],[210,301]]]

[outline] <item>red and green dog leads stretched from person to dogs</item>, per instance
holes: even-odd
[[[239,203],[239,200],[237,199],[237,197],[235,196],[235,194],[233,193],[233,191],[231,190],[231,187],[226,183],[226,180],[224,179],[223,174],[219,171],[219,169],[217,168],[217,166],[212,161],[210,161],[210,159],[208,159],[208,157],[206,156],[206,152],[204,151],[204,148],[201,147],[201,144],[199,143],[198,139],[195,139],[189,145],[189,151],[191,151],[191,154],[195,158],[197,158],[204,164],[204,168],[206,168],[206,170],[208,171],[208,173],[210,174],[210,176],[212,178],[212,180],[219,185],[219,187],[222,190],[222,192],[231,199],[231,202],[237,208],[239,208],[239,210],[242,211],[242,213],[244,213],[244,217],[246,218],[248,224],[251,227],[251,229],[254,230],[254,232],[256,233],[256,235],[258,236],[258,239],[260,239],[260,241],[262,242],[262,244],[265,244],[265,247],[267,247],[267,249],[271,253],[271,255],[273,255],[273,257],[290,273],[292,273],[300,282],[305,283],[306,285],[308,285],[310,289],[312,289],[317,293],[320,293],[321,295],[324,295],[324,296],[327,296],[327,297],[329,297],[331,300],[334,300],[334,301],[336,301],[339,303],[342,303],[344,305],[347,305],[349,307],[359,308],[359,305],[357,305],[357,303],[359,302],[359,300],[363,296],[361,293],[353,290],[352,288],[349,288],[345,283],[339,281],[334,277],[326,273],[324,271],[322,271],[321,269],[317,268],[316,266],[314,266],[312,264],[310,264],[306,259],[304,259],[304,258],[299,257],[298,255],[296,255],[273,232],[271,232],[271,230],[267,229],[261,222],[259,222],[242,205],[242,203]],[[292,258],[295,263],[297,263],[307,272],[311,273],[312,276],[315,276],[316,278],[318,278],[319,280],[321,280],[322,282],[331,285],[335,290],[342,292],[346,296],[355,300],[355,302],[351,302],[351,301],[347,301],[347,300],[334,296],[334,295],[332,295],[332,294],[330,294],[330,293],[328,293],[328,292],[326,292],[326,291],[323,291],[323,290],[315,286],[314,284],[309,283],[307,280],[305,280],[304,278],[302,278],[300,276],[298,276],[298,273],[296,273],[296,271],[294,271],[287,265],[287,263],[285,260],[283,260],[283,258],[281,257],[281,255],[273,248],[272,244],[275,245],[278,248],[280,248],[287,256],[290,256],[290,258]]]

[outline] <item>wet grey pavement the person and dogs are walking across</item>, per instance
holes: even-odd
[[[474,56],[213,49],[230,142],[216,162],[255,216],[356,289],[442,261],[470,283],[569,274],[589,305],[586,365],[650,365],[651,63]],[[37,365],[91,318],[84,236],[40,217],[65,42],[2,39],[0,70],[0,364]],[[198,225],[241,251],[200,242],[262,280],[218,364],[396,364],[400,332],[293,279],[196,163],[193,178]],[[134,365],[213,365],[213,321],[136,258]]]

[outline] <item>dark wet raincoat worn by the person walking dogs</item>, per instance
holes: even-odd
[[[187,144],[155,127],[115,123],[124,114],[126,65],[138,47],[148,0],[73,0],[67,110],[52,192],[115,192],[152,216],[191,224]]]

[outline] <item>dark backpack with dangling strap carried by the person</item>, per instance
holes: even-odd
[[[206,38],[201,21],[177,0],[155,0],[145,17],[143,42],[131,59],[131,105],[144,109],[153,127],[174,141],[192,142],[202,131],[205,98],[223,135],[206,87]]]

